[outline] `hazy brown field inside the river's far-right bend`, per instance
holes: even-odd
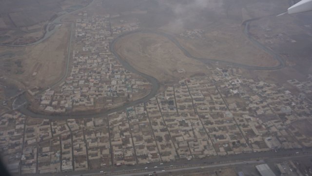
[[[271,55],[254,46],[243,34],[241,25],[222,22],[207,29],[202,39],[177,38],[193,56],[250,66],[276,66]]]

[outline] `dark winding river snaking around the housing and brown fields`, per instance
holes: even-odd
[[[199,57],[195,57],[192,54],[190,54],[190,52],[188,52],[177,40],[174,36],[168,34],[168,33],[164,33],[164,32],[160,32],[160,31],[155,31],[155,30],[150,30],[150,29],[139,29],[136,31],[130,31],[130,32],[126,32],[123,33],[121,35],[119,35],[118,37],[116,37],[111,43],[110,43],[110,49],[111,52],[116,56],[117,60],[129,71],[136,73],[138,75],[141,75],[143,78],[147,79],[151,84],[152,84],[152,89],[150,91],[150,93],[141,98],[138,99],[136,101],[127,103],[123,106],[114,108],[114,109],[110,109],[110,110],[106,110],[103,112],[99,112],[99,113],[90,113],[90,114],[55,114],[55,115],[47,115],[44,113],[40,113],[40,112],[33,112],[29,109],[27,109],[27,107],[21,107],[20,108],[20,112],[23,113],[24,115],[27,116],[31,116],[34,118],[45,118],[45,119],[71,119],[71,118],[97,118],[97,117],[103,117],[106,116],[107,114],[110,113],[114,113],[117,111],[121,111],[124,110],[125,108],[128,107],[132,107],[135,106],[137,104],[140,103],[144,103],[147,102],[149,99],[155,97],[157,90],[160,86],[158,80],[156,78],[154,78],[153,76],[147,75],[145,73],[142,73],[140,71],[138,71],[137,69],[135,69],[133,66],[131,66],[128,62],[126,62],[124,59],[122,59],[120,57],[120,55],[116,52],[115,50],[115,44],[116,42],[121,39],[122,37],[126,36],[126,35],[130,35],[130,34],[134,34],[134,33],[139,33],[139,32],[144,32],[144,33],[154,33],[157,35],[161,35],[167,39],[169,39],[171,42],[173,42],[174,44],[176,44],[176,46],[184,53],[185,56],[191,58],[191,59],[195,59],[197,61],[200,61],[204,64],[209,64],[212,62],[219,62],[222,64],[226,64],[226,65],[230,65],[230,66],[237,66],[237,67],[242,67],[245,69],[252,69],[252,70],[276,70],[276,69],[281,69],[283,67],[285,67],[285,62],[283,60],[283,58],[277,54],[276,52],[274,52],[273,50],[269,49],[268,47],[266,47],[265,45],[259,43],[258,41],[256,41],[253,37],[251,37],[250,33],[249,33],[249,23],[255,20],[259,20],[261,18],[255,18],[255,19],[250,19],[247,20],[245,22],[242,23],[242,25],[244,26],[244,34],[248,37],[248,39],[255,45],[257,45],[258,47],[260,47],[262,50],[264,50],[265,52],[267,52],[268,54],[271,54],[273,56],[274,59],[276,59],[278,61],[278,66],[249,66],[249,65],[244,65],[244,64],[238,64],[238,63],[233,63],[233,62],[227,62],[227,61],[219,61],[216,59],[210,59],[210,58],[199,58]],[[24,95],[23,95],[24,96]]]

